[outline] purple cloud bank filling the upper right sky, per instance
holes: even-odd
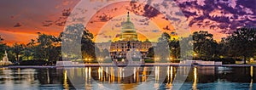
[[[255,26],[255,0],[177,1],[189,25],[230,33],[241,26]]]

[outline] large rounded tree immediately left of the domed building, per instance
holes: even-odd
[[[82,24],[68,25],[66,30],[61,33],[62,53],[67,59],[96,58],[95,43],[92,41],[93,34]],[[71,49],[72,48],[72,49]]]

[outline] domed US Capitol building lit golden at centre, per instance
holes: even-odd
[[[151,48],[152,44],[148,41],[148,39],[146,41],[138,40],[137,31],[134,24],[130,20],[130,15],[128,12],[127,20],[122,23],[119,40],[96,43],[96,46],[102,50],[105,49],[106,46],[110,46],[110,48],[108,47],[107,49],[111,57],[119,59],[125,58],[126,53],[131,50],[140,52],[142,57],[145,58],[148,54],[148,48]]]

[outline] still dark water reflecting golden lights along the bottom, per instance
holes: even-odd
[[[185,70],[183,81],[175,80]],[[255,67],[0,68],[0,89],[256,89]],[[183,75],[185,76],[185,75]],[[175,83],[175,84],[174,84]]]

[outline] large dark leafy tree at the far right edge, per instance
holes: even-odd
[[[242,57],[244,64],[246,60],[253,57],[256,53],[256,29],[249,27],[241,27],[234,31],[232,35],[226,38],[229,53],[233,57]]]

